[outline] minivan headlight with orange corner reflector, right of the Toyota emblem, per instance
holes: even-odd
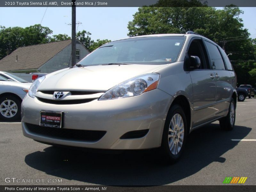
[[[159,77],[160,75],[158,73],[149,73],[133,77],[109,89],[100,97],[99,100],[132,97],[151,91],[156,89]]]

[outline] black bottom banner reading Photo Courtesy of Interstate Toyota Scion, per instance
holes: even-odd
[[[252,185],[165,185],[165,186],[102,186],[102,185],[2,185],[0,192],[255,192],[256,186]]]

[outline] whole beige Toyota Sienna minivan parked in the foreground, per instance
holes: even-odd
[[[159,148],[179,159],[188,134],[235,124],[236,74],[195,34],[136,36],[102,45],[76,66],[37,79],[22,102],[23,134],[50,145]]]

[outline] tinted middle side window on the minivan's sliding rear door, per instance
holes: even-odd
[[[205,45],[206,45],[209,55],[211,57],[212,68],[225,70],[225,65],[222,60],[222,57],[221,57],[218,47],[208,41],[205,41]]]

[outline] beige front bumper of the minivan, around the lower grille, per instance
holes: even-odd
[[[148,149],[161,146],[163,128],[173,97],[155,89],[139,96],[93,100],[83,104],[48,104],[26,96],[21,105],[24,136],[46,143],[99,149]],[[63,139],[30,132],[28,124],[39,125],[40,111],[63,111],[61,129],[106,131],[97,141]],[[142,138],[120,139],[130,131],[146,130]]]

